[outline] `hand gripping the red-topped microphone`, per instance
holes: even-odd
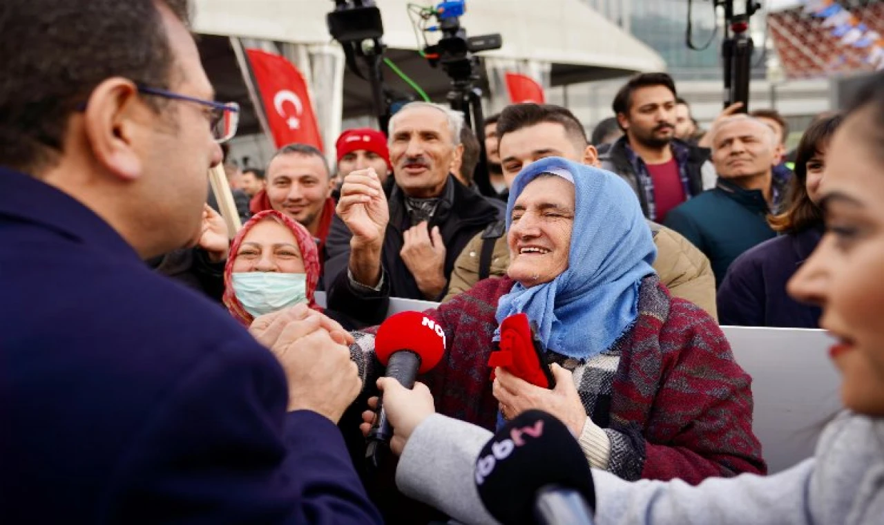
[[[390,450],[398,456],[418,425],[436,413],[433,395],[426,384],[415,382],[415,388],[408,390],[392,377],[378,379],[377,388],[384,392],[384,410],[393,430]],[[359,425],[362,435],[366,437],[375,421],[373,411],[377,410],[377,397],[369,399],[369,407],[371,410],[362,413],[363,423]]]

